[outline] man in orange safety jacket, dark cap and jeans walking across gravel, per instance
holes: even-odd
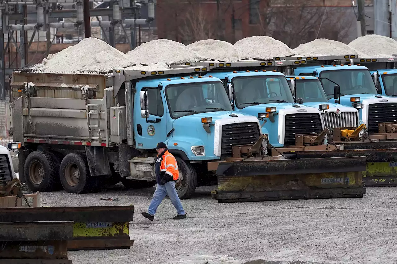
[[[150,221],[153,221],[157,207],[163,201],[164,197],[168,195],[171,203],[178,212],[173,219],[178,220],[186,218],[186,212],[183,210],[181,200],[179,200],[175,189],[175,181],[179,177],[176,159],[168,152],[167,145],[163,142],[157,144],[156,151],[158,155],[156,163],[154,163],[154,168],[156,171],[157,187],[153,194],[152,201],[150,202],[148,212],[142,212],[142,215]]]

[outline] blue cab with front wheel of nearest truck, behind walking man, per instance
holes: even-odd
[[[148,165],[152,167],[147,170],[153,170],[154,148],[158,142],[166,143],[178,161],[176,188],[181,198],[190,197],[197,185],[207,184],[208,162],[232,157],[233,145],[253,145],[263,132],[267,134],[256,117],[233,111],[219,78],[196,74],[207,68],[190,68],[191,72],[189,68],[142,71],[148,75],[144,78],[136,71],[128,77],[124,69],[124,75],[116,76],[130,79],[124,82],[127,109],[128,105],[133,109],[127,112],[127,120],[133,121],[129,144],[141,153],[132,159],[131,172]],[[131,173],[126,178],[140,180],[142,175]]]

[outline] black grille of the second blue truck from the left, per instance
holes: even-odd
[[[319,114],[302,113],[285,115],[284,145],[295,145],[295,135],[320,134],[322,132]]]

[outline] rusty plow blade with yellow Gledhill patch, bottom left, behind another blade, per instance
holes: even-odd
[[[72,221],[67,250],[130,249],[134,206],[31,207],[0,209],[0,222]]]

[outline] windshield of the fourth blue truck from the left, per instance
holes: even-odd
[[[322,71],[320,77],[333,80],[340,86],[341,96],[350,94],[377,94],[371,73],[368,70],[333,70]],[[327,79],[320,79],[327,98],[333,98],[335,84]]]

